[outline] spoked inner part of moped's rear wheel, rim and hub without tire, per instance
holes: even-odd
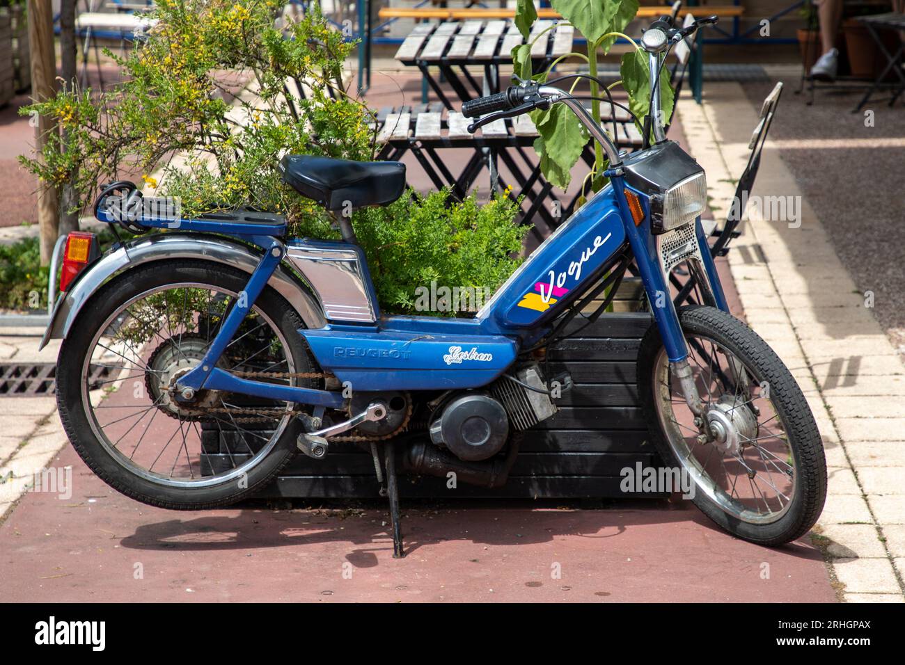
[[[236,299],[235,291],[221,287],[169,284],[123,301],[98,322],[84,356],[83,394],[95,388],[104,388],[107,394],[100,401],[86,397],[82,408],[101,446],[125,469],[161,486],[201,487],[239,478],[274,449],[277,437],[294,417],[291,404],[256,398],[249,402],[205,389],[192,397],[180,395],[179,400],[173,393],[178,377],[201,362]],[[233,368],[292,373],[297,367],[290,348],[271,318],[252,304],[226,346],[230,355],[224,352],[221,363],[233,365],[234,358],[245,356]],[[115,364],[119,360],[122,365]],[[89,366],[92,371],[117,370],[119,376],[109,375],[89,385]],[[300,370],[309,371],[307,366]],[[139,386],[141,380],[144,383]],[[273,380],[292,383],[285,377]],[[122,389],[127,381],[136,383],[134,392]],[[280,410],[272,417],[253,411],[262,408]],[[252,429],[243,424],[250,409]],[[158,418],[160,413],[164,415]],[[245,450],[236,451],[237,444]],[[215,463],[218,457],[223,459],[220,464]]]

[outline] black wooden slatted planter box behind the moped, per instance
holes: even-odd
[[[525,432],[519,457],[509,481],[499,489],[446,481],[432,476],[400,477],[400,494],[414,498],[626,498],[658,497],[650,492],[633,495],[620,488],[620,471],[660,466],[648,441],[647,425],[638,407],[635,360],[641,338],[652,324],[649,312],[638,309],[641,284],[626,280],[616,301],[617,311],[606,313],[580,337],[563,340],[549,349],[552,375],[568,371],[574,386],[557,400],[559,412]],[[619,311],[622,310],[622,311]],[[586,325],[573,321],[573,329]],[[207,464],[227,462],[221,433],[203,428]],[[229,436],[225,432],[223,436]],[[233,443],[233,451],[238,442]],[[219,462],[218,458],[223,461]],[[375,498],[379,484],[374,462],[354,443],[334,443],[327,456],[315,461],[298,455],[281,475],[258,492],[261,498]]]

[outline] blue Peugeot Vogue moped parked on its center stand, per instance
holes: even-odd
[[[643,34],[652,81],[697,27],[667,18]],[[628,156],[557,87],[526,82],[463,105],[479,118],[473,131],[565,104],[609,160],[608,185],[473,318],[382,315],[345,216],[336,216],[340,242],[286,238],[280,216],[252,211],[124,216],[141,195],[109,185],[95,206],[101,221],[178,228],[102,255],[90,236],[68,240],[67,283],[44,343],[62,338],[57,397],[73,446],[133,499],[200,509],[248,496],[299,451],[321,459],[331,443],[357,442],[386,483],[401,556],[397,461],[417,474],[503,484],[520,432],[556,413],[569,385],[545,371],[545,349],[600,296],[603,311],[632,267],[652,317],[638,391],[662,461],[687,474],[695,504],[738,537],[777,545],[804,535],[826,493],[814,417],[782,361],[729,314],[700,223],[704,171],[664,137],[659,98],[654,86],[652,145]],[[288,156],[280,167],[288,185],[333,212],[386,204],[405,189],[395,162]],[[673,305],[679,266],[702,305]],[[211,426],[222,433],[223,468],[204,454],[200,430]]]

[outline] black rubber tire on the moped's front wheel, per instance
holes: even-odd
[[[703,491],[696,491],[692,500],[720,527],[758,545],[782,545],[804,536],[820,517],[826,499],[824,447],[805,395],[773,349],[742,321],[710,307],[685,307],[678,314],[686,336],[700,335],[714,340],[748,366],[758,383],[768,383],[770,401],[784,426],[795,461],[795,496],[785,514],[775,522],[754,524],[741,520],[720,508]],[[678,467],[680,462],[666,441],[655,404],[658,398],[654,391],[654,373],[661,354],[664,354],[662,340],[653,325],[644,336],[638,353],[638,394],[662,461]]]

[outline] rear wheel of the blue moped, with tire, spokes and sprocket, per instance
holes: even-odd
[[[175,398],[248,276],[207,261],[159,261],[98,290],[63,340],[57,404],[90,469],[114,489],[160,508],[199,509],[242,499],[290,461],[296,405],[223,391]],[[312,387],[298,315],[265,289],[217,366],[271,383]]]

